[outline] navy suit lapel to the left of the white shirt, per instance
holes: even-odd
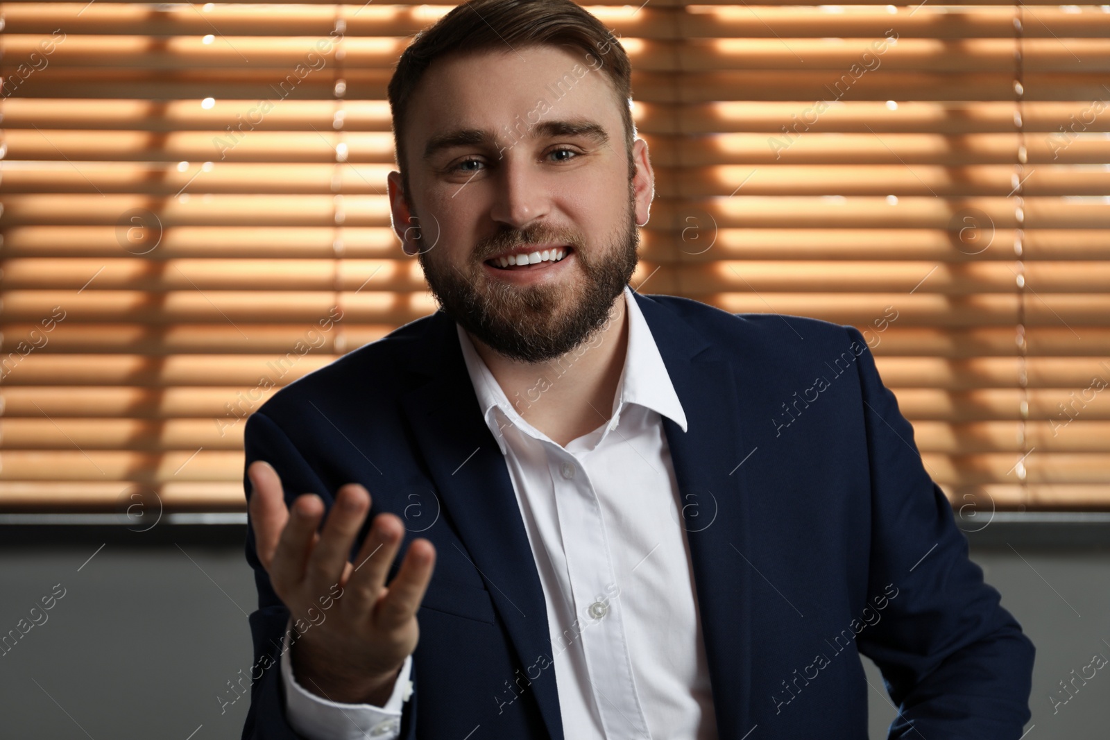
[[[410,391],[402,407],[454,521],[467,557],[486,581],[522,666],[551,655],[543,587],[504,456],[478,408],[458,346],[455,323],[436,312],[411,354],[412,372],[428,382]],[[512,678],[512,677],[506,677]],[[552,738],[563,738],[554,670],[532,682]]]

